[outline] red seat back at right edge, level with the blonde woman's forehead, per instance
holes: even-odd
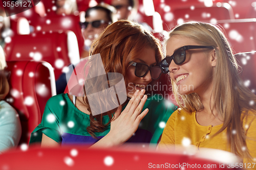
[[[228,42],[235,53],[256,50],[256,19],[220,20],[218,22],[225,30]]]

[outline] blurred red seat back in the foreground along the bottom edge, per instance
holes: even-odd
[[[24,149],[23,149],[24,150]],[[207,153],[206,153],[207,152]],[[232,154],[221,150],[201,153],[159,153],[142,147],[84,149],[84,147],[29,148],[11,150],[0,155],[3,169],[230,169],[239,162]],[[225,162],[225,163],[224,163]],[[237,163],[238,164],[238,163]],[[236,168],[232,168],[236,169]],[[241,168],[238,168],[241,169]]]

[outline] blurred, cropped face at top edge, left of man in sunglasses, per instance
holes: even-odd
[[[56,1],[56,14],[58,15],[70,15],[77,10],[75,0],[57,0]]]

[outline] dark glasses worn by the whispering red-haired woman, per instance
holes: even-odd
[[[159,66],[148,66],[144,63],[136,63],[131,62],[132,66],[135,66],[135,76],[137,77],[144,77],[146,76],[147,72],[150,70],[151,78],[153,80],[157,80],[161,76],[161,68]]]

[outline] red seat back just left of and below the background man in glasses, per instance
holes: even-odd
[[[63,67],[79,61],[79,56],[69,54],[67,33],[33,33],[13,36],[5,46],[6,60],[47,61],[58,79]],[[71,56],[71,57],[69,57]]]

